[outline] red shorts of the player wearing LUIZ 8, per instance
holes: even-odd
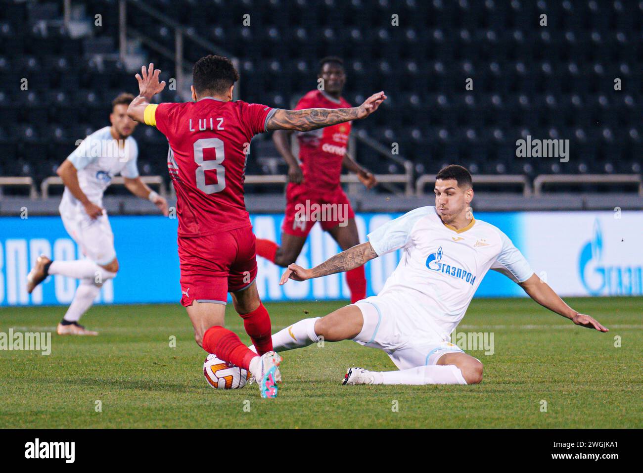
[[[228,292],[247,288],[257,277],[252,227],[201,237],[178,238],[181,304],[192,301],[226,304]]]

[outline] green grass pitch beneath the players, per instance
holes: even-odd
[[[284,352],[275,400],[255,385],[210,388],[206,353],[178,304],[96,306],[83,322],[99,337],[54,332],[49,356],[0,351],[0,427],[643,427],[643,298],[568,302],[610,332],[574,326],[529,299],[475,299],[458,330],[494,333],[493,355],[468,351],[484,363],[482,384],[342,386],[348,366],[395,369],[385,353],[345,341]],[[266,306],[276,331],[343,304]],[[65,310],[0,308],[0,332],[54,331]],[[231,306],[226,322],[248,341]]]

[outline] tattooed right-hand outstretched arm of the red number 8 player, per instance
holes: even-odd
[[[321,127],[336,125],[366,118],[386,100],[384,92],[368,97],[359,107],[351,108],[307,108],[303,110],[278,109],[266,124],[266,131],[296,130],[310,131]]]

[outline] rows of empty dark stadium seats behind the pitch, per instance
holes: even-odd
[[[102,15],[89,37],[72,38],[60,2],[10,2],[0,9],[0,150],[3,175],[51,175],[73,140],[107,124],[109,102],[136,82],[115,53],[118,2],[88,0]],[[365,4],[370,8],[364,8]],[[643,3],[470,0],[158,0],[154,8],[240,58],[241,98],[287,107],[316,85],[316,62],[345,59],[345,97],[383,89],[390,100],[357,125],[399,144],[418,173],[462,162],[487,174],[638,173],[643,152]],[[243,26],[244,14],[251,27]],[[391,26],[391,15],[399,26]],[[547,14],[548,26],[539,26]],[[133,28],[169,50],[174,33],[149,15]],[[328,26],[332,24],[333,26]],[[448,28],[446,28],[448,25]],[[149,58],[156,56],[151,51]],[[186,50],[194,61],[208,51]],[[118,57],[114,55],[114,57]],[[160,59],[158,66],[173,71]],[[622,90],[614,90],[614,79]],[[21,79],[28,90],[21,90]],[[473,79],[473,90],[465,80]],[[13,86],[8,86],[13,84]],[[165,100],[172,100],[170,91]],[[521,160],[516,140],[570,140],[574,159]],[[166,176],[167,142],[139,127],[143,172]],[[262,147],[257,147],[261,150]],[[397,165],[358,160],[376,172]],[[257,156],[259,158],[260,156]],[[260,159],[248,173],[271,172]]]

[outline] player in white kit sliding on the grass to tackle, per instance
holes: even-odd
[[[403,250],[397,268],[378,295],[340,308],[326,317],[304,319],[275,333],[277,351],[326,342],[354,340],[385,351],[399,371],[351,367],[343,384],[476,384],[482,362],[450,342],[489,269],[520,284],[534,301],[572,320],[606,332],[589,315],[579,313],[534,274],[511,240],[498,228],[473,218],[471,174],[449,165],[435,181],[435,207],[411,210],[368,234],[325,263],[304,269],[288,266],[280,284],[305,281],[365,264]]]

